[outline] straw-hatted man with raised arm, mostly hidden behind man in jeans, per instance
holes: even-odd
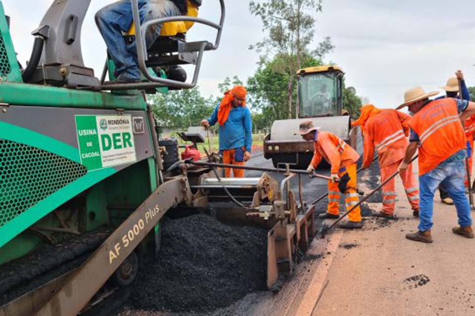
[[[460,86],[462,88],[462,91],[459,91],[459,80],[460,80]],[[437,99],[442,99],[442,98],[460,98],[460,94],[462,95],[463,100],[470,101],[470,93],[469,90],[467,89],[467,85],[465,84],[464,80],[464,74],[462,73],[461,70],[458,70],[455,72],[455,77],[451,77],[447,80],[447,83],[445,86],[441,87],[442,89],[445,90],[446,95],[441,96],[436,98]],[[469,170],[472,170],[472,148],[473,148],[473,143],[474,143],[474,134],[473,132],[475,131],[475,126],[474,126],[474,119],[467,119],[465,122],[465,135],[467,136],[467,154],[469,155]],[[466,186],[469,186],[467,181],[466,181]],[[449,196],[447,190],[445,189],[444,185],[441,183],[439,185],[439,194],[440,194],[440,199],[442,203],[449,204],[449,205],[454,205],[453,199]]]

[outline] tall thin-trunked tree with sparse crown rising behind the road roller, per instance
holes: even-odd
[[[274,59],[268,66],[275,73],[286,75],[287,117],[292,118],[293,86],[304,57],[322,59],[333,49],[329,37],[317,48],[309,48],[315,34],[315,19],[307,12],[322,12],[322,0],[251,1],[249,10],[261,18],[263,32],[267,34],[266,38],[249,48],[258,52],[265,50],[260,64],[269,62],[267,56],[270,55]]]

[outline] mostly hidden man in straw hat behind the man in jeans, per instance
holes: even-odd
[[[460,80],[460,85],[462,86],[462,91],[459,91],[459,80]],[[455,77],[451,77],[447,80],[447,84],[443,87],[442,89],[445,90],[445,95],[436,98],[438,99],[443,99],[443,98],[459,98],[460,99],[460,93],[462,93],[462,99],[470,101],[470,94],[469,90],[467,89],[467,85],[465,84],[464,80],[464,74],[462,73],[461,70],[458,70],[455,73]],[[470,122],[469,122],[470,124]],[[467,129],[467,126],[466,126]],[[467,133],[466,133],[467,134]],[[466,135],[467,136],[467,135]],[[470,136],[470,135],[468,135]],[[472,148],[473,148],[473,135],[472,135],[472,141],[470,141],[469,138],[467,138],[467,154],[469,155],[469,158],[471,158],[471,153],[472,153]],[[472,170],[472,159],[469,161],[470,163],[470,170]],[[442,203],[449,204],[449,205],[454,205],[453,199],[449,196],[447,190],[445,189],[445,186],[443,183],[439,185],[439,193],[440,193],[440,199]]]

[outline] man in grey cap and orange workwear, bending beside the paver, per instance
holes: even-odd
[[[306,141],[314,142],[315,151],[313,159],[307,168],[308,173],[312,174],[315,171],[322,158],[327,160],[332,166],[332,180],[328,182],[328,208],[326,213],[319,215],[319,218],[337,219],[339,218],[340,199],[337,182],[345,173],[348,173],[350,177],[347,184],[348,189],[345,192],[346,210],[349,210],[359,202],[358,193],[356,192],[356,161],[358,161],[360,156],[338,136],[329,132],[319,131],[319,128],[316,128],[311,120],[300,124],[299,134]],[[363,227],[359,206],[349,213],[348,219],[349,221],[339,224],[339,227],[344,229]]]

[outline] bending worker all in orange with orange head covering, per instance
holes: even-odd
[[[378,109],[372,104],[361,108],[360,117],[351,125],[361,125],[364,137],[363,168],[368,168],[373,156],[378,152],[381,182],[389,178],[401,164],[409,136],[408,121],[411,117],[392,109]],[[419,216],[419,188],[412,172],[412,164],[399,173],[406,190],[406,196],[413,209],[413,215]],[[396,206],[395,179],[392,178],[382,187],[382,210],[379,217],[393,217]]]

